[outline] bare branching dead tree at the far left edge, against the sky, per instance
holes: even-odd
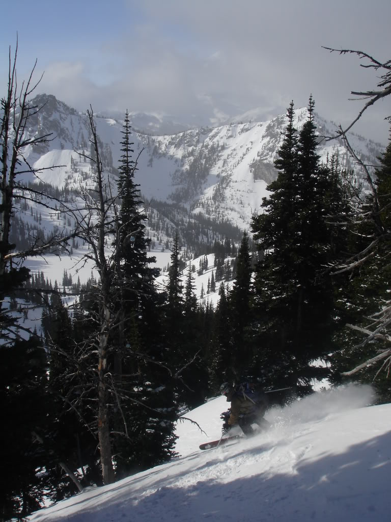
[[[16,245],[10,244],[11,217],[15,212],[15,201],[18,199],[33,200],[32,192],[23,183],[23,174],[39,176],[43,170],[52,170],[60,165],[53,165],[43,169],[35,169],[29,164],[26,151],[33,146],[42,145],[54,139],[52,134],[32,134],[30,131],[31,121],[43,106],[35,105],[30,96],[38,87],[42,76],[38,81],[33,81],[36,61],[27,81],[21,86],[17,82],[17,54],[18,41],[13,56],[11,48],[8,54],[8,85],[5,96],[1,99],[0,108],[0,335],[5,339],[18,337],[16,327],[3,328],[5,324],[12,325],[15,322],[7,314],[4,307],[6,291],[9,287],[20,286],[23,278],[11,277],[13,274],[22,273],[22,261],[29,255],[42,255],[51,250],[54,245],[64,245],[70,237],[63,233],[52,236],[47,242],[39,240],[38,237],[31,238],[31,246],[24,252],[15,252]],[[32,189],[33,191],[33,189]],[[50,197],[47,197],[50,201]],[[40,204],[40,202],[37,202]],[[43,203],[50,208],[50,203]],[[53,203],[54,209],[55,203]],[[19,260],[16,270],[15,260]],[[28,278],[28,271],[24,269],[23,277]],[[17,282],[15,282],[17,280]]]

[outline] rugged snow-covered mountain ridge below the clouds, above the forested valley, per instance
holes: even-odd
[[[26,157],[35,168],[63,165],[53,171],[43,171],[41,179],[59,187],[75,187],[80,176],[72,173],[71,162],[80,161],[78,152],[89,153],[89,126],[85,114],[79,114],[54,96],[41,94],[34,99],[44,105],[34,116],[29,133],[50,134],[54,139],[44,146],[31,148]],[[266,185],[275,179],[273,165],[282,144],[285,115],[270,121],[254,121],[256,111],[247,114],[247,123],[230,123],[220,127],[190,129],[179,134],[150,136],[133,132],[135,158],[139,157],[136,181],[143,196],[184,205],[189,211],[201,212],[217,221],[229,221],[240,229],[248,229],[251,217],[259,212]],[[295,111],[295,126],[300,129],[308,116],[307,109]],[[132,117],[132,115],[131,115]],[[149,127],[148,115],[133,115],[133,125],[143,121]],[[140,120],[141,118],[141,120]],[[154,118],[150,120],[154,127]],[[251,123],[250,123],[251,120]],[[330,135],[335,128],[315,115],[320,136]],[[104,167],[116,172],[120,157],[122,122],[113,118],[96,117],[97,132]],[[156,127],[158,128],[158,127]],[[351,135],[351,144],[359,156],[370,164],[383,150],[381,144]],[[322,141],[318,150],[322,160],[338,153],[343,167],[353,167],[349,154],[340,140]],[[89,165],[80,165],[79,172]],[[75,170],[75,169],[74,169]],[[357,176],[362,173],[357,170]]]

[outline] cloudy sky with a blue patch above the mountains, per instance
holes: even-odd
[[[38,92],[95,112],[143,111],[217,124],[258,108],[262,120],[310,93],[327,120],[346,125],[361,109],[351,90],[377,75],[357,56],[391,58],[389,0],[18,0],[2,6],[0,85],[19,35],[18,77],[38,58]],[[391,98],[391,97],[389,97]],[[356,127],[387,142],[391,100]]]

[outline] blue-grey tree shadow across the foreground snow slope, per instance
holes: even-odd
[[[275,474],[273,466],[278,459],[292,470]],[[270,471],[267,459],[270,458]],[[295,460],[296,459],[296,460]],[[296,465],[297,461],[297,465]],[[256,465],[259,469],[256,471]],[[211,466],[212,464],[212,466]],[[252,476],[236,478],[238,472]],[[174,466],[175,467],[175,466]],[[255,471],[254,471],[255,469]],[[71,522],[95,520],[124,520],[126,522],[200,520],[240,522],[368,522],[390,521],[391,501],[389,477],[391,474],[391,432],[350,446],[340,454],[324,454],[317,460],[302,454],[294,455],[289,446],[241,448],[235,454],[211,452],[210,459],[182,474],[172,470],[156,470],[149,474],[149,490],[129,491],[130,482],[124,480],[105,492],[107,500],[93,507],[93,499],[82,499]],[[167,474],[168,473],[168,474]],[[254,474],[255,473],[255,474]],[[274,474],[272,474],[274,473]],[[134,485],[134,484],[133,484]],[[103,491],[102,491],[103,493]],[[108,494],[111,499],[108,499]],[[103,500],[103,499],[102,499]],[[58,506],[59,507],[59,506]],[[76,507],[76,506],[75,506]],[[74,510],[76,511],[76,509]],[[50,515],[37,520],[51,520]]]

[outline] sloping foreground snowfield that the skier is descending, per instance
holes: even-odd
[[[315,394],[266,418],[266,433],[201,451],[219,438],[218,397],[177,428],[181,456],[29,517],[34,522],[389,522],[391,404],[369,387]]]

